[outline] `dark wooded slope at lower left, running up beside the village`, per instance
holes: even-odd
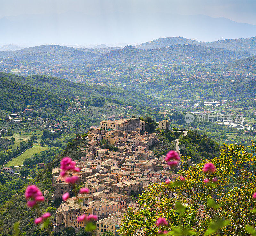
[[[83,142],[77,143],[73,141],[69,143],[65,151],[58,154],[56,158],[47,165],[47,168],[40,171],[36,178],[29,181],[29,185],[37,185],[40,190],[44,193],[44,190],[49,190],[47,196],[45,196],[44,203],[41,204],[41,210],[44,212],[49,211],[52,216],[56,216],[56,208],[51,207],[50,201],[52,196],[52,174],[53,168],[59,166],[61,158],[70,156],[73,159],[80,158],[80,148],[84,145]],[[7,201],[3,206],[0,206],[0,236],[13,235],[13,225],[15,222],[20,222],[20,235],[26,232],[26,235],[49,235],[46,230],[40,229],[34,224],[34,219],[38,217],[36,209],[27,208],[26,200],[24,197],[26,185],[18,188],[17,194],[12,196],[10,201]],[[56,202],[57,204],[58,201]],[[50,228],[53,229],[54,219],[50,218]]]

